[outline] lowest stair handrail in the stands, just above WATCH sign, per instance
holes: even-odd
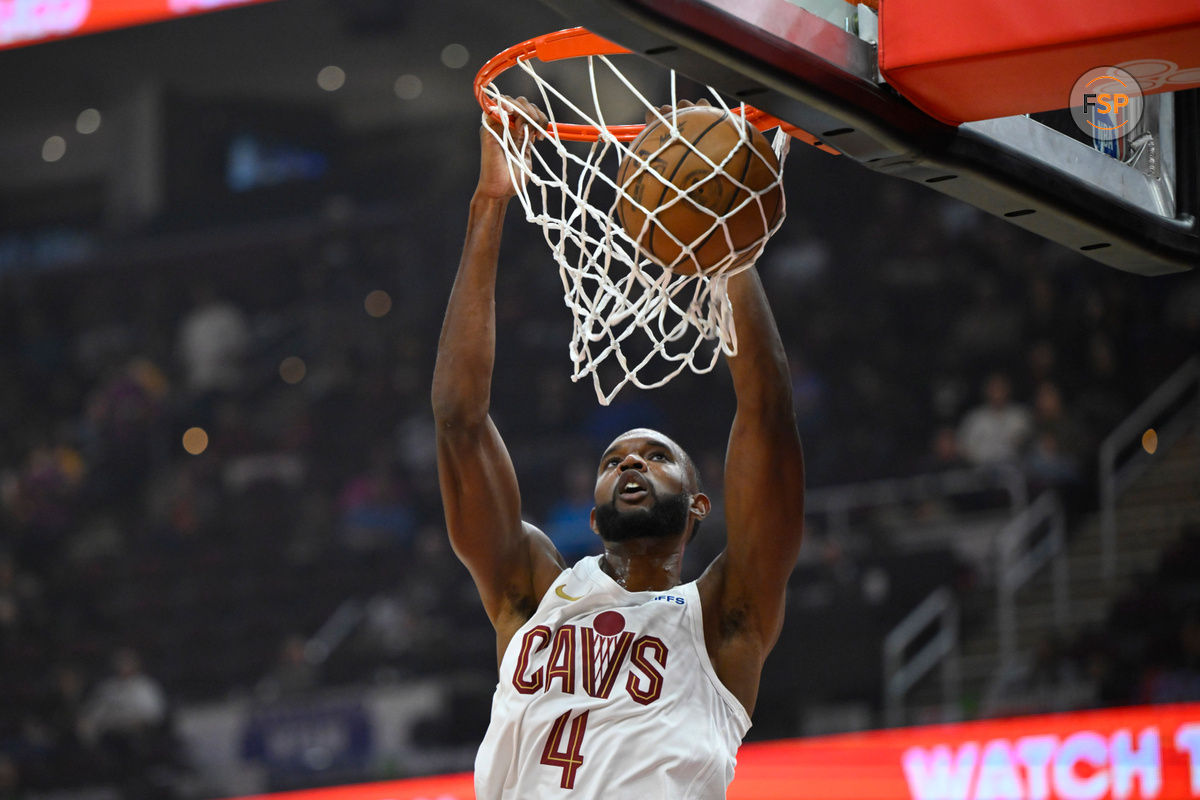
[[[930,626],[937,632],[911,657],[908,648]],[[883,717],[888,727],[904,724],[904,698],[936,666],[942,666],[943,718],[958,716],[962,693],[959,668],[959,601],[946,587],[934,590],[883,639]]]

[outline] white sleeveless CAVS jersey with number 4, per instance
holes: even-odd
[[[704,648],[696,584],[625,591],[589,557],[504,652],[475,796],[724,798],[749,729]]]

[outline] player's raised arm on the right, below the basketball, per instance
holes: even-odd
[[[728,543],[706,578],[706,640],[718,674],[750,709],[762,662],[784,622],[787,578],[804,531],[804,457],[787,355],[757,270],[730,278],[738,355],[728,360],[737,414],[725,461]]]

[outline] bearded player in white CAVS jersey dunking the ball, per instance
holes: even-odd
[[[684,547],[709,499],[679,445],[638,428],[617,437],[596,467],[592,528],[604,555],[568,567],[521,519],[516,473],[488,416],[500,229],[514,187],[494,139],[486,130],[480,139],[433,373],[446,525],[496,627],[500,662],[476,794],[724,798],[803,530],[804,462],[774,318],[755,270],[730,279],[739,350],[728,360],[737,414],[725,552],[680,583]]]

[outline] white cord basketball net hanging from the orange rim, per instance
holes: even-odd
[[[667,131],[678,134],[674,112],[668,109],[666,115],[659,112],[659,106],[647,100],[607,56],[587,56],[586,61],[590,100],[581,103],[569,100],[538,74],[532,59],[522,59],[517,66],[536,84],[541,96],[539,106],[552,124],[570,119],[595,126],[601,132],[596,142],[562,142],[551,133],[527,148],[527,133],[514,133],[514,130],[524,132],[524,126],[504,126],[498,133],[491,127],[487,130],[504,148],[526,218],[541,227],[558,263],[566,306],[574,315],[571,380],[592,375],[598,399],[607,405],[625,384],[653,389],[666,384],[684,368],[696,373],[709,372],[721,353],[737,354],[737,335],[726,284],[730,276],[754,265],[767,239],[782,224],[782,193],[774,223],[768,219],[761,198],[781,185],[788,137],[781,131],[775,133],[772,146],[779,158],[779,168],[770,166],[774,180],[757,192],[725,172],[724,162],[714,163],[692,149],[708,162],[714,174],[742,187],[749,197],[724,213],[708,211],[692,199],[694,190],[703,187],[706,179],[659,206],[659,210],[665,210],[674,203],[690,203],[696,209],[703,209],[713,216],[713,224],[709,231],[696,239],[697,247],[709,234],[725,236],[731,245],[728,255],[703,275],[673,273],[654,263],[617,218],[617,204],[622,197],[635,203],[617,184],[618,167],[626,156],[638,156],[605,127],[611,121],[606,120],[601,108],[596,73],[602,72],[601,67],[607,68],[619,85],[636,98],[640,108],[652,112]],[[670,83],[668,104],[676,107],[679,98],[676,96],[674,72],[671,72]],[[487,86],[486,95],[494,101],[497,112],[505,120],[512,114],[523,115],[521,109],[503,100],[494,84]],[[714,107],[731,110],[716,91],[708,89],[708,95]],[[748,143],[749,125],[739,115],[733,119],[742,126],[742,139]],[[682,140],[673,136],[664,146]],[[751,157],[762,161],[754,148],[745,146],[754,154]],[[552,152],[548,152],[551,148]],[[638,161],[648,168],[648,160]],[[726,221],[746,204],[757,205],[766,234],[750,246],[733,249]],[[655,212],[636,205],[646,215],[646,224],[650,224]],[[660,230],[683,248],[682,258],[691,254],[692,242],[679,241],[665,227]],[[708,347],[703,347],[706,342]],[[605,389],[605,384],[610,387]]]

